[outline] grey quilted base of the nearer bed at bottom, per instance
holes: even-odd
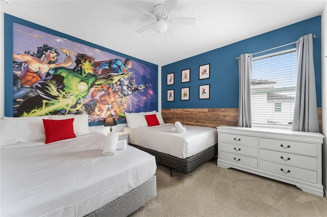
[[[122,197],[108,203],[102,208],[91,212],[85,217],[128,216],[149,200],[157,196],[156,175],[147,182],[134,188]]]

